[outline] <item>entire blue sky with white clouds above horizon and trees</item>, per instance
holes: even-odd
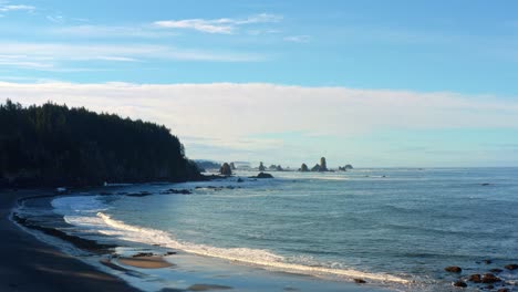
[[[194,159],[518,166],[516,11],[516,1],[0,0],[0,101],[164,124]]]

